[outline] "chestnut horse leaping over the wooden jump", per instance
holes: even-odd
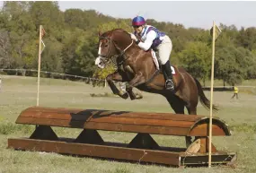
[[[136,87],[140,91],[162,95],[176,114],[184,114],[184,109],[187,108],[189,115],[197,115],[199,101],[205,108],[210,108],[210,102],[200,82],[182,67],[173,65],[175,90],[165,90],[164,74],[155,65],[151,50],[144,51],[139,48],[126,30],[114,29],[104,33],[99,32],[98,44],[95,65],[104,68],[110,60],[117,65],[117,70],[109,74],[106,81],[111,91],[119,97],[137,99],[132,91],[133,87]],[[127,92],[120,92],[113,81],[128,82]],[[216,111],[218,108],[213,105],[213,109]]]

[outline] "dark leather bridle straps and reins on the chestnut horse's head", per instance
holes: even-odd
[[[110,38],[111,38],[111,37],[112,37],[112,34],[111,34]],[[117,65],[117,63],[113,60],[113,57],[114,57],[114,56],[109,57],[109,56],[110,56],[111,44],[113,43],[114,48],[116,48],[116,49],[119,50],[120,53],[119,53],[118,57],[120,57],[120,56],[123,56],[123,55],[125,54],[125,51],[126,51],[128,48],[130,48],[130,47],[132,46],[132,44],[133,44],[134,41],[133,41],[133,39],[132,39],[132,41],[131,41],[131,43],[128,45],[128,47],[125,48],[124,50],[121,50],[121,49],[116,45],[116,43],[115,43],[112,39],[110,39],[110,38],[109,38],[109,37],[105,37],[105,36],[100,36],[100,40],[101,40],[101,39],[107,39],[107,40],[110,41],[110,47],[109,47],[108,53],[107,53],[106,55],[101,55],[101,54],[99,54],[98,56],[103,57],[102,61],[103,61],[104,64],[107,64],[107,63],[109,62],[109,60],[111,60],[113,64]],[[118,57],[117,57],[117,58],[118,58]],[[123,59],[123,60],[118,64],[118,66],[119,66],[119,65],[122,65],[127,59],[128,59],[128,57],[126,57],[125,59]]]

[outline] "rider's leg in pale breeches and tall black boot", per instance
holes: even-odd
[[[172,82],[172,69],[170,65],[170,55],[172,52],[172,41],[168,36],[164,36],[163,42],[158,47],[159,61],[163,67],[163,73],[165,77],[165,88],[167,90],[174,90],[174,84]]]

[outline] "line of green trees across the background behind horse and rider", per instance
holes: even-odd
[[[181,23],[146,22],[172,39],[172,65],[183,66],[201,81],[211,73],[209,29],[188,28]],[[67,9],[57,2],[4,2],[0,11],[0,68],[37,69],[39,27],[43,25],[46,45],[41,70],[81,76],[105,77],[113,66],[99,70],[98,32],[122,28],[132,31],[131,19],[117,19],[94,10]],[[256,28],[237,29],[221,24],[216,40],[215,78],[224,84],[256,79]]]

